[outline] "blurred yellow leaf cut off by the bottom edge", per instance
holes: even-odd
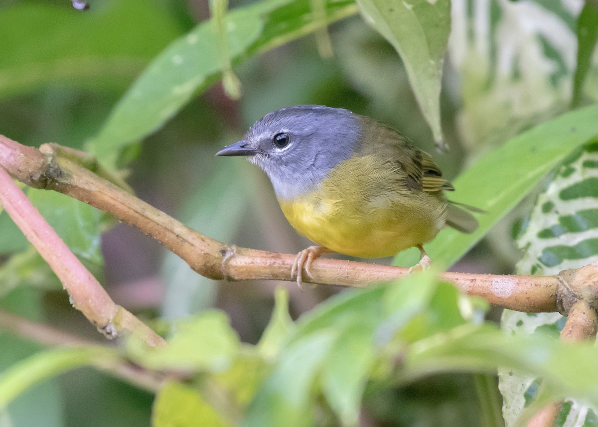
[[[152,410],[152,427],[227,427],[221,414],[195,389],[177,382],[167,382],[160,389]]]

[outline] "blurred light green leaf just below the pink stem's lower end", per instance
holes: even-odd
[[[208,310],[176,322],[164,348],[148,347],[136,337],[128,340],[130,356],[145,367],[163,370],[224,371],[240,350],[239,336],[225,313]]]

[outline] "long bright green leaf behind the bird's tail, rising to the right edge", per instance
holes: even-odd
[[[472,234],[444,228],[425,246],[434,263],[450,266],[521,201],[570,152],[598,135],[598,105],[568,112],[507,141],[453,181],[451,200],[484,209]],[[416,251],[395,257],[398,266],[417,263]]]

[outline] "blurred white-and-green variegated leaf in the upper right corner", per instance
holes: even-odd
[[[452,0],[449,59],[462,82],[465,144],[498,144],[569,108],[583,4]],[[598,99],[598,73],[588,73],[584,94]]]

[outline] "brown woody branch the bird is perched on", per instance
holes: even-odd
[[[295,255],[239,248],[210,239],[80,164],[60,157],[55,147],[45,144],[37,150],[0,136],[0,166],[31,187],[59,191],[135,225],[202,276],[216,280],[292,280]],[[401,267],[318,258],[312,264],[312,279],[307,274],[304,277],[306,282],[323,285],[361,287],[404,276],[407,271]],[[598,295],[597,285],[590,280],[598,277],[598,264],[566,270],[557,276],[448,272],[443,277],[466,294],[524,312],[559,310],[566,315],[575,301]]]

